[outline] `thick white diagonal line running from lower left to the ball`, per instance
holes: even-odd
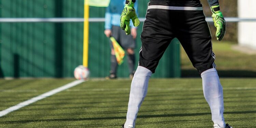
[[[0,111],[0,117],[4,116],[4,115],[6,115],[6,114],[8,114],[8,113],[10,113],[10,112],[12,112],[12,111],[18,110],[18,109],[20,109],[20,108],[22,108],[22,107],[24,107],[24,106],[27,106],[27,105],[29,105],[29,104],[31,104],[31,103],[37,102],[38,100],[41,100],[41,99],[44,99],[44,98],[46,98],[46,97],[52,96],[52,95],[54,95],[54,94],[56,94],[56,93],[59,93],[60,91],[63,91],[63,90],[65,90],[65,89],[68,89],[68,88],[71,88],[71,87],[74,87],[74,86],[76,86],[76,85],[78,85],[78,84],[80,84],[80,83],[82,83],[82,82],[84,82],[84,81],[83,81],[83,80],[73,81],[73,82],[71,82],[71,83],[68,83],[68,84],[66,84],[66,85],[63,85],[63,86],[58,87],[58,88],[56,88],[56,89],[53,89],[53,90],[51,90],[51,91],[48,91],[48,92],[46,92],[46,93],[44,93],[44,94],[42,94],[42,95],[39,95],[39,96],[37,96],[37,97],[34,97],[34,98],[29,99],[29,100],[24,101],[24,102],[21,102],[21,103],[15,105],[15,106],[12,106],[12,107],[10,107],[10,108],[8,108],[8,109],[5,109],[5,110],[3,110],[3,111]]]

